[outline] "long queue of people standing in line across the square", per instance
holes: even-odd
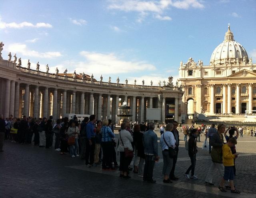
[[[160,127],[160,148],[163,158],[163,182],[172,183],[178,180],[175,175],[175,166],[179,151],[178,122],[161,125]],[[86,117],[79,122],[76,116],[72,120],[67,117],[54,120],[49,118],[12,118],[6,120],[0,114],[0,151],[3,151],[3,141],[11,140],[20,144],[32,144],[41,148],[51,148],[54,146],[60,154],[69,154],[72,158],[80,156],[85,160],[88,168],[101,164],[102,170],[116,170],[119,167],[120,177],[130,178],[129,173],[133,169],[135,174],[142,177],[144,181],[155,183],[153,170],[155,162],[158,162],[158,136],[154,132],[155,124],[142,123],[130,124],[128,119],[124,119],[119,130],[118,142],[114,140],[114,124],[112,120],[98,120],[96,116]],[[188,139],[188,156],[191,165],[184,173],[186,179],[198,179],[195,175],[196,154],[198,152],[197,142],[200,142],[200,134],[204,132],[206,139],[209,138],[209,153],[212,157],[212,164],[208,170],[205,182],[213,185],[214,170],[220,174],[220,184],[218,188],[226,192],[225,188],[230,188],[232,193],[240,193],[234,188],[234,175],[236,175],[235,159],[236,140],[239,136],[239,129],[227,128],[224,124],[218,124],[217,129],[212,124],[210,128],[202,125],[195,128],[184,126],[184,141]],[[227,136],[226,134],[229,134]],[[224,134],[224,135],[223,135]],[[236,135],[235,135],[236,134]],[[234,136],[235,135],[235,136]],[[224,143],[226,138],[226,144]],[[54,141],[55,140],[55,141]],[[120,164],[116,160],[116,149],[119,152]],[[133,165],[131,164],[132,159]],[[133,167],[132,167],[133,166]],[[143,171],[144,166],[144,171]],[[189,175],[191,172],[191,176]],[[230,185],[224,188],[224,182],[229,180]]]

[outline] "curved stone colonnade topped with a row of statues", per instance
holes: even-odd
[[[93,75],[62,74],[56,68],[56,73],[40,71],[37,63],[36,70],[30,68],[30,62],[22,65],[21,58],[16,54],[5,60],[1,56],[4,44],[0,43],[0,114],[8,117],[31,116],[34,118],[54,119],[69,114],[91,115],[95,114],[98,120],[112,119],[116,121],[118,107],[127,102],[131,108],[131,121],[146,121],[148,108],[158,108],[161,115],[158,122],[171,122],[181,120],[180,106],[183,91],[174,86],[172,77],[162,86],[146,86],[104,82],[103,77],[97,81]],[[6,56],[7,57],[7,56]],[[14,58],[14,60],[12,60]]]

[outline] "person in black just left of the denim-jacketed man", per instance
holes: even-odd
[[[140,133],[137,136],[137,149],[138,149],[138,157],[140,158],[140,162],[138,165],[138,177],[143,177],[143,164],[145,162],[145,153],[144,153],[144,146],[143,146],[143,134],[145,133],[146,125],[140,125]]]

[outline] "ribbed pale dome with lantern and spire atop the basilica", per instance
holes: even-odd
[[[233,33],[230,31],[230,26],[228,25],[225,40],[212,52],[210,64],[237,64],[238,62],[243,63],[244,61],[248,63],[248,54],[244,47],[234,40]]]

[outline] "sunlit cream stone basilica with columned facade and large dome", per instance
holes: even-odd
[[[212,52],[209,65],[193,58],[180,62],[179,82],[184,90],[184,117],[251,114],[256,110],[256,64],[234,40],[230,26],[224,41]]]

